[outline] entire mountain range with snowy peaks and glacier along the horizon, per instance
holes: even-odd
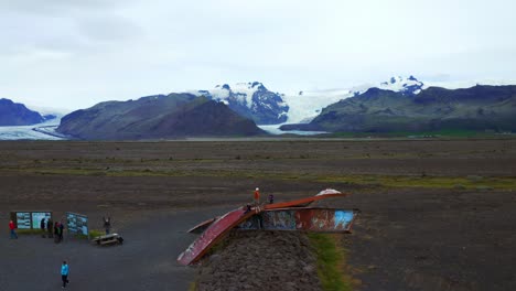
[[[515,131],[515,86],[445,89],[428,87],[413,76],[391,77],[376,86],[295,94],[273,93],[252,82],[100,103],[66,115],[56,131],[45,126],[40,132],[86,140],[131,140],[265,134],[257,125],[283,132]],[[45,120],[8,99],[0,100],[0,114],[3,125]],[[23,136],[20,130],[25,129],[4,137]]]

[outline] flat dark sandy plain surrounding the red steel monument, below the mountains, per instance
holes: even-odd
[[[314,273],[303,234],[281,250],[293,269],[246,257],[246,248],[204,267],[175,262],[195,238],[186,229],[240,207],[256,186],[277,201],[326,187],[352,193],[321,205],[362,211],[340,239],[357,290],[516,290],[515,181],[515,139],[0,142],[0,290],[61,289],[63,259],[72,290],[187,290],[193,281],[214,290],[219,278],[222,290],[310,290],[316,279],[293,271],[301,261]],[[109,215],[127,244],[10,240],[9,212],[18,209],[84,213],[92,228]],[[270,235],[232,237],[273,250]],[[233,271],[244,282],[221,274],[237,262],[257,266]]]

